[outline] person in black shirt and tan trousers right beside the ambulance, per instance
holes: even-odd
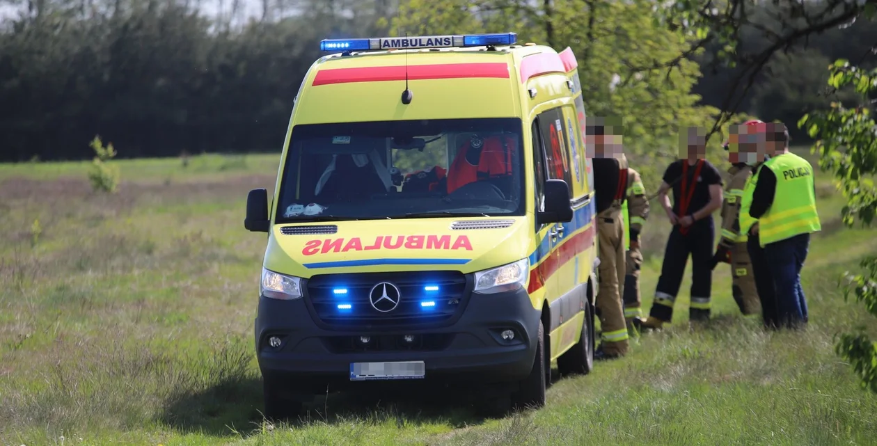
[[[594,352],[597,360],[627,354],[628,332],[624,323],[622,284],[624,277],[624,223],[621,208],[627,190],[627,159],[621,150],[620,129],[588,119],[588,155],[593,157],[597,232],[599,234],[600,288],[596,308],[600,315],[602,343]]]

